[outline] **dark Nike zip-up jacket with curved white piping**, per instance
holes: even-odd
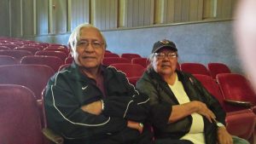
[[[107,97],[75,63],[49,79],[44,96],[47,122],[50,129],[64,137],[65,143],[104,144],[114,135],[117,136],[113,143],[137,141],[139,132],[127,128],[126,124],[127,120],[145,122],[149,112],[148,97],[139,95],[125,74],[115,68],[102,66],[102,73]],[[100,115],[80,109],[99,100],[104,103]]]

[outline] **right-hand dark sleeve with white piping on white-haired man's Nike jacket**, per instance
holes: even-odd
[[[125,74],[115,72],[115,78],[117,81],[114,80],[114,84],[109,86],[114,87],[112,95],[103,99],[103,113],[108,116],[144,122],[149,113],[148,96],[139,94],[125,78]]]

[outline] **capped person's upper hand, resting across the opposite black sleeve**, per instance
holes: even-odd
[[[215,121],[215,114],[201,101],[191,101],[197,107],[197,113],[205,116],[211,123]]]

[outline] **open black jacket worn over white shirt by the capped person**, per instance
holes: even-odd
[[[225,124],[225,112],[218,100],[212,96],[207,89],[191,74],[177,71],[177,78],[182,82],[183,87],[190,101],[202,101],[216,115],[218,122]],[[140,93],[148,95],[151,107],[151,121],[154,126],[156,138],[171,137],[179,139],[187,134],[192,124],[192,117],[182,118],[179,121],[167,124],[172,113],[172,106],[178,105],[175,95],[168,84],[151,68],[144,72],[143,78],[138,80],[137,89]],[[217,126],[204,119],[204,134],[207,144],[216,144]]]

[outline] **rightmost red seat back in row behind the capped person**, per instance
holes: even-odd
[[[216,79],[218,73],[231,73],[230,68],[224,63],[210,62],[207,66],[213,79]]]

